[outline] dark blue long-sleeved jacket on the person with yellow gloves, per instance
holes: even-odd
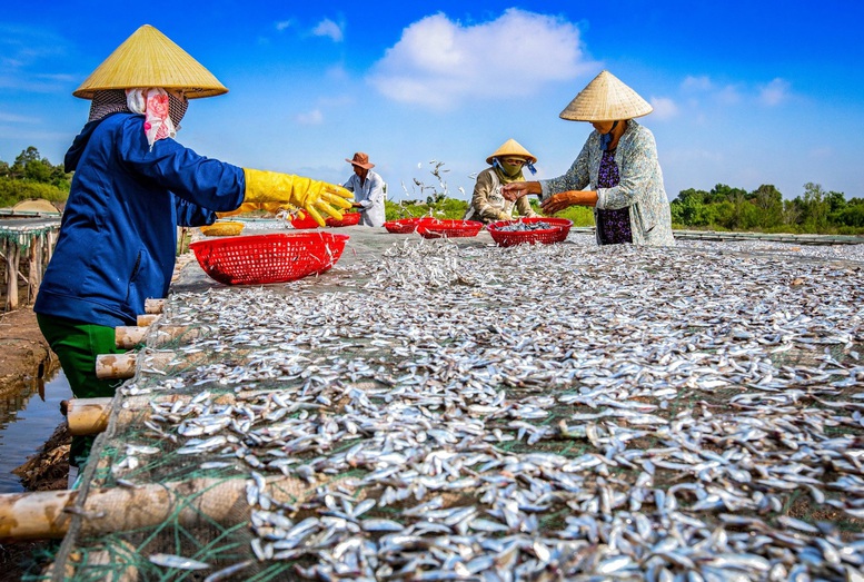
[[[76,174],[33,310],[105,326],[135,324],[145,299],[168,294],[177,226],[211,224],[246,191],[242,168],[170,138],[151,150],[131,114],[86,125],[66,170]]]

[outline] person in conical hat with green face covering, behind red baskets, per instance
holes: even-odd
[[[486,164],[491,167],[477,175],[471,204],[463,219],[484,224],[513,220],[514,203],[501,196],[501,187],[507,184],[524,183],[523,168],[527,166],[534,174],[536,162],[537,158],[518,141],[515,139],[505,141],[495,154],[486,158]],[[522,216],[532,218],[537,216],[527,197],[516,199],[515,206]]]

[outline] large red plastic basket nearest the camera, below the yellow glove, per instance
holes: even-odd
[[[191,243],[198,264],[226,285],[285,283],[332,267],[348,235],[280,233]]]

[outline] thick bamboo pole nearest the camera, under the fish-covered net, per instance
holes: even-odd
[[[9,493],[0,495],[0,543],[61,539],[71,514],[81,516],[81,534],[152,527],[176,519],[185,527],[236,525],[250,515],[245,477],[195,479],[136,487],[95,489],[83,509],[76,507],[78,491]],[[314,485],[296,477],[279,476],[268,483],[267,494],[288,503],[314,492]]]

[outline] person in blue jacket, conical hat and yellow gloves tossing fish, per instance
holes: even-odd
[[[33,310],[78,398],[113,396],[96,375],[118,353],[115,328],[135,325],[145,300],[168,294],[178,226],[266,205],[341,218],[351,194],[309,178],[240,168],[175,140],[190,99],[227,92],[207,69],[150,26],[139,28],[72,93],[90,116],[66,155],[75,171],[53,256]],[[70,465],[89,454],[75,437]]]

